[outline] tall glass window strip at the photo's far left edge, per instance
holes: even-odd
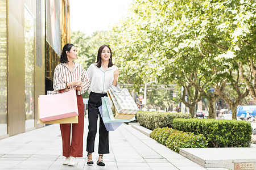
[[[7,134],[6,0],[0,0],[0,136]]]

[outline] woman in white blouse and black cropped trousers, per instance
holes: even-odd
[[[100,46],[98,49],[97,62],[89,66],[87,74],[91,85],[88,90],[90,94],[88,101],[89,132],[86,151],[88,152],[87,164],[93,164],[92,152],[94,152],[97,120],[100,114],[98,107],[101,106],[101,97],[108,96],[106,92],[110,87],[119,89],[117,82],[119,71],[112,63],[112,51],[108,45]],[[109,154],[109,131],[106,130],[101,116],[99,134],[99,156],[97,165],[105,166],[102,156],[103,154]]]

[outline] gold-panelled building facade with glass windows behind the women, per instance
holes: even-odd
[[[0,0],[0,139],[43,126],[38,97],[69,41],[69,0]]]

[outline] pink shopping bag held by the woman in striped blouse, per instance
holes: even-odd
[[[78,116],[76,91],[39,96],[39,118],[43,122]]]

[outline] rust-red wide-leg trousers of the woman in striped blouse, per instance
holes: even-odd
[[[82,157],[82,141],[84,135],[84,103],[82,95],[76,95],[79,110],[78,124],[60,124],[63,156]],[[72,126],[72,139],[70,143]]]

